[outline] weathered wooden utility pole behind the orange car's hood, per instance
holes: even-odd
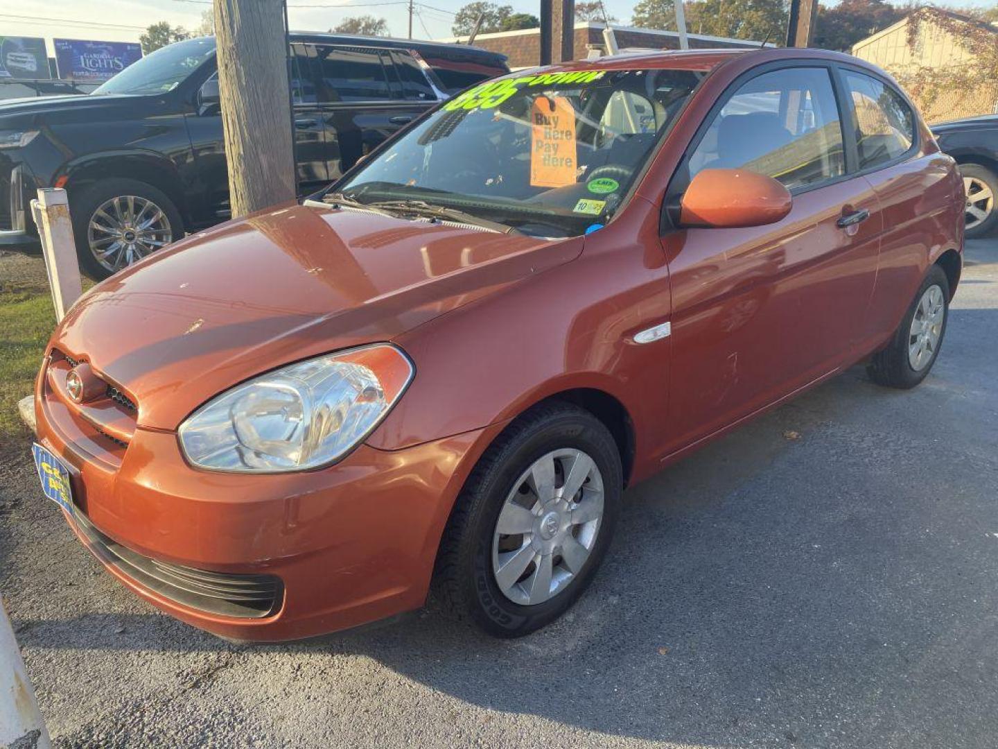
[[[233,217],[295,197],[284,3],[215,0]]]

